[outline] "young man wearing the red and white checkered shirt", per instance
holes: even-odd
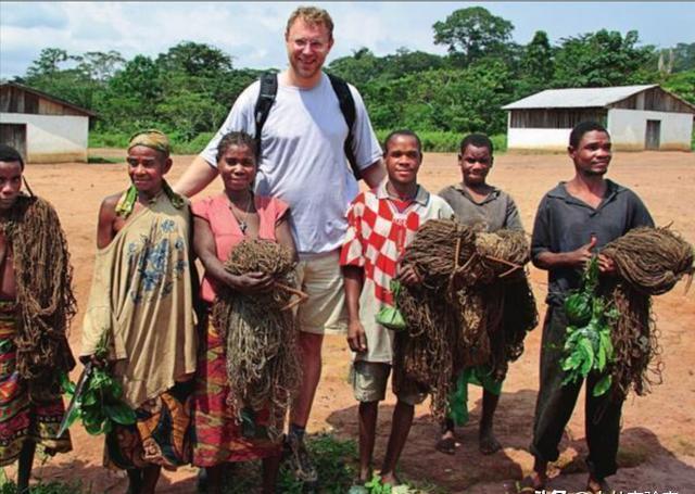
[[[393,305],[390,282],[396,278],[399,259],[418,227],[432,218],[453,216],[439,197],[417,183],[422,150],[417,135],[397,130],[384,142],[388,179],[363,192],[348,212],[348,233],[341,253],[349,312],[348,343],[354,355],[352,368],[355,398],[359,402],[359,481],[370,478],[379,402],[383,400],[393,356],[393,332],[375,316]],[[412,269],[397,276],[403,283],[418,281]],[[395,466],[413,423],[414,405],[425,395],[399,389],[389,445],[381,468],[382,483],[395,485]]]

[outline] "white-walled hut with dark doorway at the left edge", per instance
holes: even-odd
[[[93,116],[27,86],[0,84],[0,142],[17,149],[27,163],[86,163]]]

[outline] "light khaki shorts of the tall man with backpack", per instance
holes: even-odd
[[[299,287],[308,295],[298,311],[300,331],[314,334],[344,333],[348,330],[348,307],[340,251],[300,261],[296,277]]]

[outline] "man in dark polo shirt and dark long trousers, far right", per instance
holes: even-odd
[[[558,458],[558,444],[572,415],[582,381],[563,385],[560,367],[567,316],[564,300],[581,286],[582,270],[593,255],[604,276],[614,262],[601,248],[633,228],[654,226],[646,207],[630,189],[605,178],[611,159],[610,136],[594,122],[578,124],[568,147],[574,177],[543,197],[535,216],[531,255],[533,264],[548,271],[547,313],[541,347],[541,388],[535,405],[531,453],[533,473],[525,479],[526,492],[543,487],[548,461]],[[616,472],[622,400],[611,393],[593,395],[598,377],[586,378],[585,422],[589,444],[589,482],[592,493],[610,492],[606,477]]]

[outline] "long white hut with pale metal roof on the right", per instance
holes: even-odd
[[[571,128],[596,121],[614,149],[690,151],[695,105],[657,85],[546,89],[503,106],[509,111],[507,147],[567,149]]]

